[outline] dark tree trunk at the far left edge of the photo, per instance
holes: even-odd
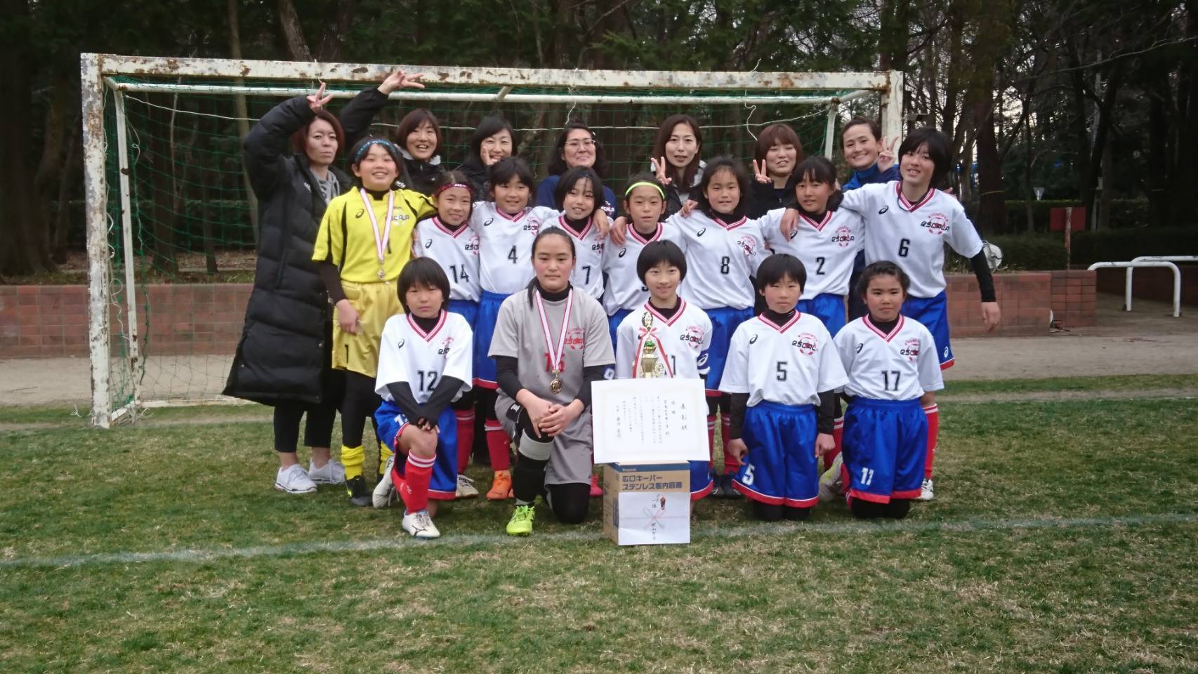
[[[0,10],[10,22],[28,24],[28,0],[2,0]],[[32,69],[28,65],[32,47],[30,31],[13,31],[0,44],[0,79],[5,83],[7,104],[0,105],[0,199],[5,212],[0,219],[0,274],[30,274],[54,268],[46,249],[44,212],[34,190],[34,129],[30,104],[34,98]]]

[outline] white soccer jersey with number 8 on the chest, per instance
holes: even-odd
[[[666,226],[678,229],[678,245],[686,254],[686,278],[678,295],[701,309],[752,306],[755,291],[749,277],[767,256],[758,220],[725,223],[695,211],[689,218],[674,213]]]

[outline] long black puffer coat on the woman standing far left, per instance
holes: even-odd
[[[311,261],[325,200],[291,134],[313,119],[303,96],[284,101],[246,136],[246,169],[258,196],[254,291],[224,394],[266,405],[321,402],[331,374],[332,312]],[[329,166],[341,190],[350,177]]]

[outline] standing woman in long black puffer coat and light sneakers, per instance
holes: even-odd
[[[343,147],[325,87],[284,101],[244,141],[246,170],[258,196],[259,245],[246,327],[224,394],[274,407],[274,487],[309,493],[340,485],[345,468],[329,457],[340,376],[332,369],[332,318],[325,284],[311,262],[313,242],[331,199],[350,177],[332,164]],[[294,152],[294,153],[292,153]],[[300,420],[311,463],[296,456]]]

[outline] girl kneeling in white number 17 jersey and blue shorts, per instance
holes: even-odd
[[[857,290],[870,312],[835,338],[848,375],[843,480],[858,517],[902,518],[922,491],[927,418],[919,400],[944,379],[932,333],[900,314],[909,284],[894,262],[869,265]]]

